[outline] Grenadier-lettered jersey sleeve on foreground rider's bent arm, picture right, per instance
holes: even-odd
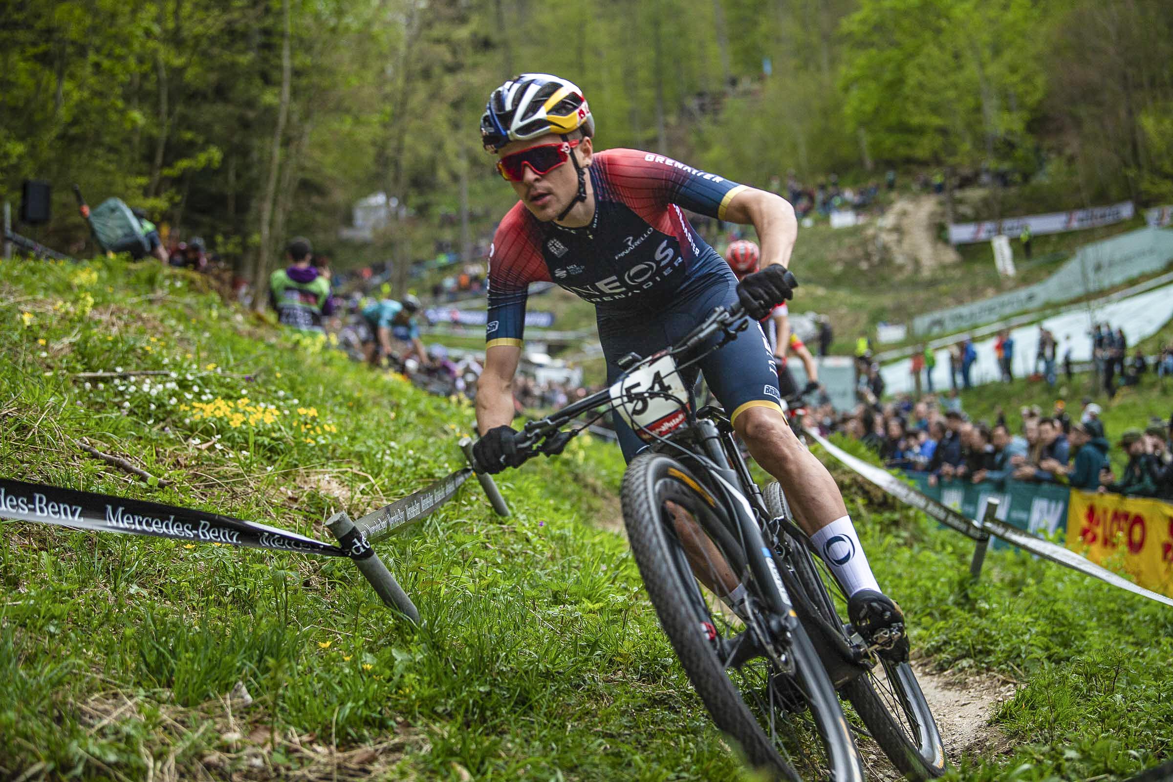
[[[653,152],[609,149],[596,157],[611,186],[637,211],[676,204],[723,220],[733,197],[746,190],[743,184]]]

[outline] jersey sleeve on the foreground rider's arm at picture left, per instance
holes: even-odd
[[[509,210],[489,245],[487,348],[496,345],[521,346],[529,284],[550,280],[540,250],[541,232],[523,213],[524,209],[518,203]]]

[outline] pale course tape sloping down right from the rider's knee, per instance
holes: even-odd
[[[1078,570],[1085,576],[1098,578],[1101,582],[1106,582],[1112,586],[1126,590],[1133,594],[1140,594],[1150,600],[1157,600],[1158,603],[1164,603],[1167,606],[1173,606],[1173,598],[1158,594],[1157,592],[1146,590],[1143,586],[1137,586],[1128,579],[1117,576],[1111,570],[1100,567],[1096,563],[1087,560],[1085,557],[1080,557],[1066,546],[1060,546],[1056,543],[1051,543],[1050,540],[1044,540],[1043,538],[1036,537],[1030,532],[1019,530],[1017,526],[1012,526],[1005,522],[996,519],[982,522],[982,524],[978,525],[977,522],[965,518],[952,508],[943,505],[931,497],[925,497],[923,494],[911,488],[888,470],[875,467],[874,464],[868,464],[867,462],[852,456],[843,449],[830,444],[825,437],[820,436],[819,433],[807,429],[806,434],[822,446],[828,454],[863,476],[867,481],[876,484],[893,497],[896,497],[896,499],[923,510],[929,517],[941,522],[952,530],[956,530],[957,532],[961,532],[962,535],[967,535],[975,540],[981,539],[985,533],[996,535],[1006,543],[1012,543],[1019,549],[1030,551],[1031,553],[1043,557],[1044,559],[1050,559],[1051,562],[1064,565],[1065,567]]]

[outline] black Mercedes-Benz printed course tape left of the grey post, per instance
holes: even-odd
[[[0,478],[0,518],[189,543],[348,557],[350,551],[257,522],[143,499]]]

